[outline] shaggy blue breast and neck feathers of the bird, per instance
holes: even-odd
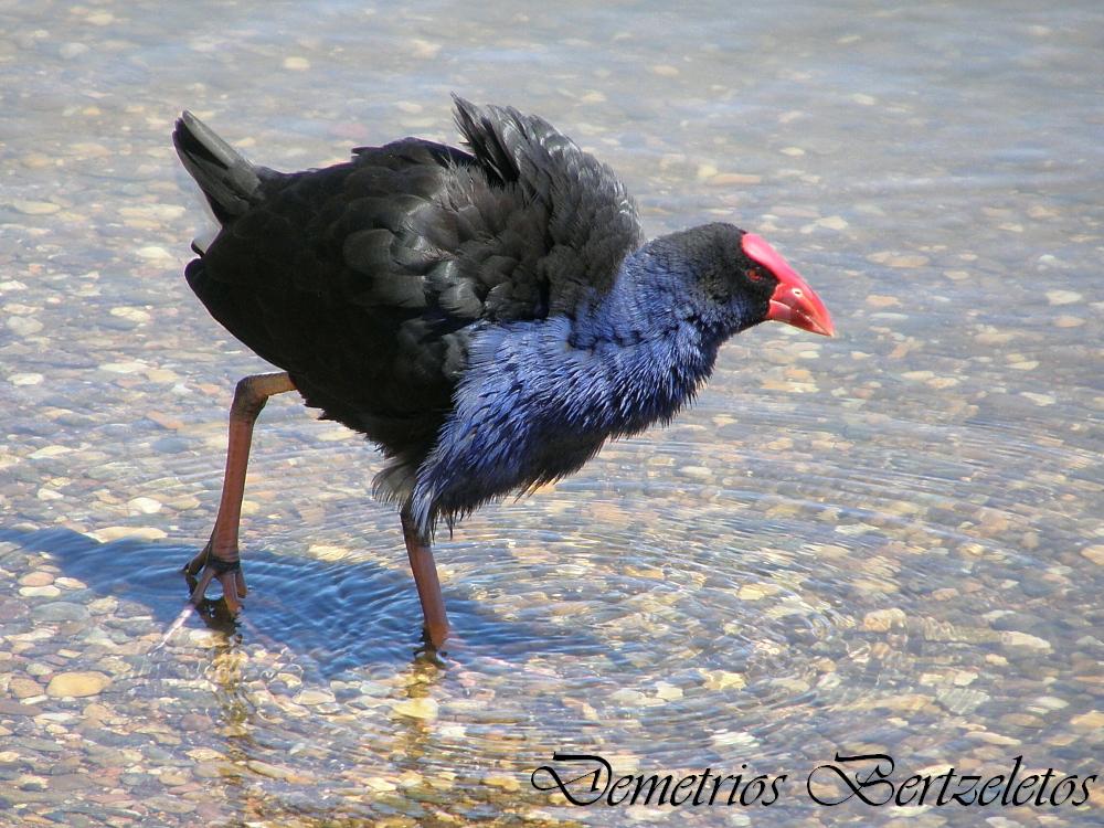
[[[474,337],[454,412],[418,469],[411,507],[423,529],[570,474],[607,437],[666,422],[692,399],[720,342],[672,297],[661,308],[640,298]]]

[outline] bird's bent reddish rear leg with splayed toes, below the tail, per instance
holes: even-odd
[[[242,519],[242,497],[245,495],[245,469],[250,464],[253,424],[257,422],[257,415],[269,396],[287,391],[295,391],[295,383],[286,373],[246,376],[234,390],[234,403],[230,407],[226,474],[222,481],[219,517],[215,518],[211,540],[183,570],[192,586],[193,604],[198,605],[203,601],[203,593],[211,581],[219,578],[231,615],[237,615],[241,608],[240,598],[245,595],[246,588],[237,554],[237,527]],[[197,575],[199,581],[195,581]]]

